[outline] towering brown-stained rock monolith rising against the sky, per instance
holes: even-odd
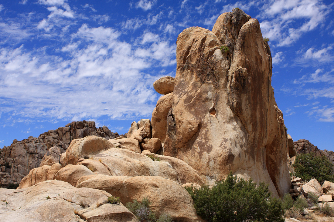
[[[274,195],[289,192],[287,133],[259,21],[235,9],[220,15],[212,32],[185,29],[176,59],[164,155],[185,161],[211,184],[232,171],[268,183]]]

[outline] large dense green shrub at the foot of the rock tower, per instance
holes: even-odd
[[[237,179],[231,173],[211,189],[186,187],[198,215],[207,221],[284,221],[281,201],[268,186]]]

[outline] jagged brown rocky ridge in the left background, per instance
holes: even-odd
[[[88,135],[105,139],[114,139],[119,136],[106,126],[96,128],[94,121],[84,120],[68,123],[65,127],[59,127],[56,130],[49,130],[40,134],[38,138],[30,136],[22,141],[14,140],[10,146],[4,146],[0,150],[0,170],[5,173],[0,175],[0,184],[3,184],[2,180],[20,183],[30,170],[43,165],[52,165],[56,161],[59,163],[59,154],[66,151],[73,139]],[[4,166],[6,162],[9,167]]]

